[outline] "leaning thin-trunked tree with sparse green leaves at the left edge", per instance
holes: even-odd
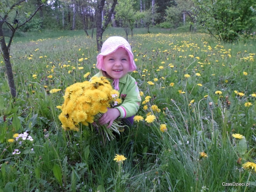
[[[19,0],[13,5],[9,6],[7,1],[0,2],[0,44],[1,44],[1,54],[5,61],[6,74],[8,79],[9,88],[11,91],[11,95],[13,98],[16,97],[16,88],[13,79],[13,71],[12,65],[10,61],[10,48],[11,43],[14,37],[16,30],[22,26],[24,26],[27,22],[29,22],[35,15],[36,12],[42,7],[45,0],[42,0],[40,4],[38,4],[37,9],[34,13],[26,13],[23,10],[26,9],[27,3],[30,3],[29,0]],[[22,23],[19,21],[25,18],[26,20]],[[5,33],[4,28],[8,28],[10,30],[9,42],[6,44],[5,42]]]

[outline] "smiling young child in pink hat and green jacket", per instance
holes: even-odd
[[[100,70],[94,77],[107,77],[115,90],[120,93],[120,106],[108,109],[99,123],[109,123],[109,128],[115,119],[122,118],[128,125],[133,125],[133,117],[138,112],[141,103],[137,82],[128,72],[135,71],[133,52],[130,44],[122,37],[108,38],[102,45],[101,53],[97,56],[96,67]]]

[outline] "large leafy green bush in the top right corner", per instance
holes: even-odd
[[[256,26],[255,0],[194,0],[197,28],[221,41],[248,37]]]

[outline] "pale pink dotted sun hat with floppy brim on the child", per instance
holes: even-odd
[[[97,56],[97,69],[106,71],[104,67],[103,57],[115,52],[119,47],[124,48],[129,55],[129,72],[135,71],[137,67],[133,60],[133,52],[131,51],[131,46],[125,40],[125,38],[119,36],[110,37],[103,43],[101,53]]]

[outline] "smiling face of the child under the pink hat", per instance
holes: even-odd
[[[103,57],[106,72],[113,79],[120,79],[129,71],[129,55],[124,48]]]

